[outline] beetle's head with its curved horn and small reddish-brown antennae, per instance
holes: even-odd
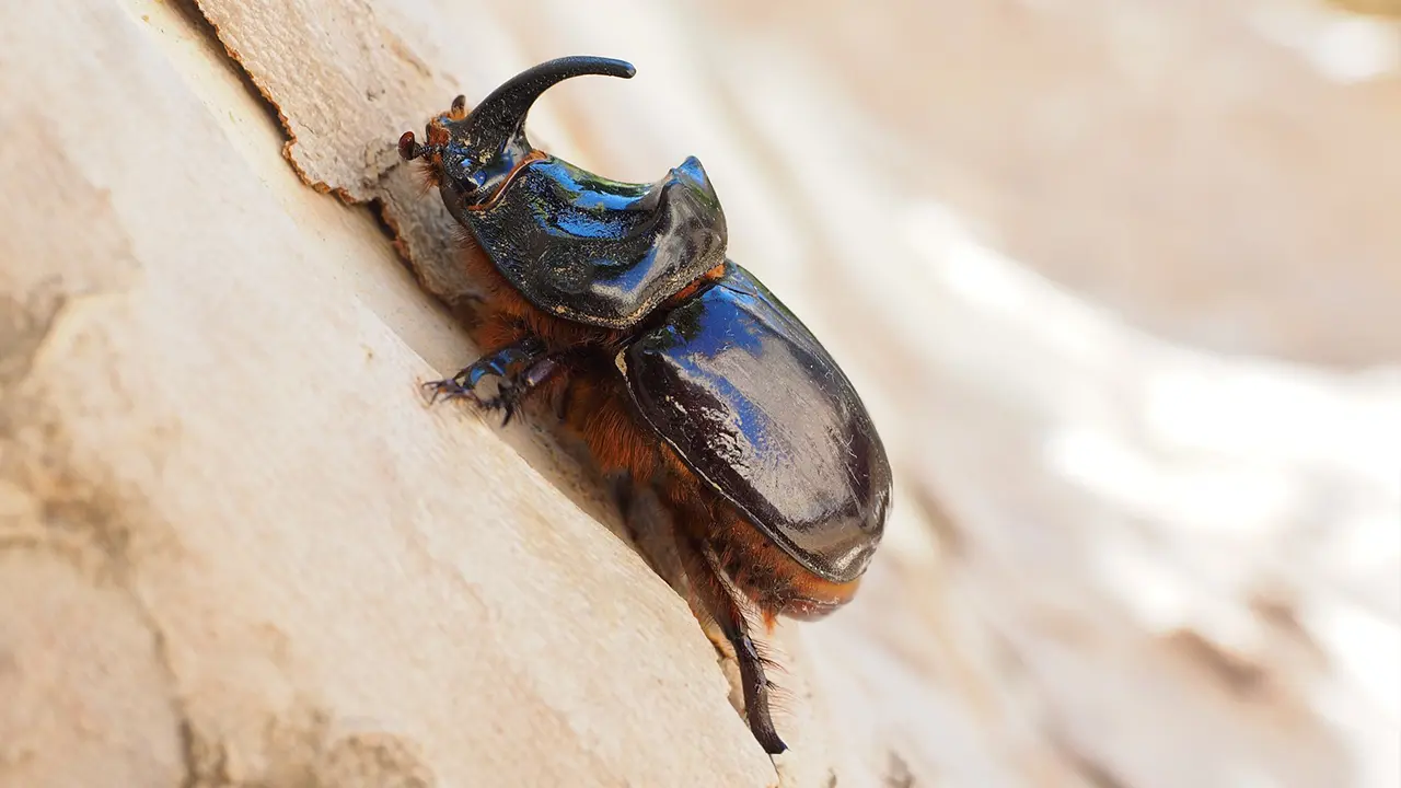
[[[429,121],[426,144],[413,132],[399,137],[399,156],[423,158],[427,174],[443,192],[448,210],[492,201],[511,172],[541,154],[525,137],[525,116],[542,93],[556,83],[584,74],[630,79],[636,69],[623,60],[579,55],[548,60],[516,74],[482,100],[472,112],[457,97],[453,109]]]

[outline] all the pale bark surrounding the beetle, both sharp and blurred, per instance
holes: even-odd
[[[0,785],[1395,785],[1401,35],[1222,8],[0,11]],[[417,395],[394,143],[566,53],[639,73],[532,139],[699,156],[897,467],[778,759],[587,468]]]

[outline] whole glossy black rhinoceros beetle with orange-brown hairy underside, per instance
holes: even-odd
[[[471,114],[458,97],[426,144],[399,139],[471,231],[464,264],[483,293],[486,353],[427,386],[504,421],[525,398],[556,401],[604,473],[657,494],[691,607],[734,649],[754,736],[782,753],[745,611],[772,628],[852,599],[884,531],[890,464],[832,356],[727,258],[724,212],[695,157],[625,184],[527,139],[551,86],[633,73],[605,57],[549,60]],[[486,377],[492,395],[478,394]]]

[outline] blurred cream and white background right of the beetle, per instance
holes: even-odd
[[[635,181],[696,154],[731,255],[857,381],[897,515],[857,602],[785,635],[895,771],[1387,788],[1388,11],[541,1],[481,10],[468,93],[558,55],[636,63],[555,88],[537,140]]]

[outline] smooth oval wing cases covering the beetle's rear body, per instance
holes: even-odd
[[[729,262],[618,365],[651,428],[769,538],[828,580],[862,575],[890,505],[885,449],[836,362],[764,285]]]

